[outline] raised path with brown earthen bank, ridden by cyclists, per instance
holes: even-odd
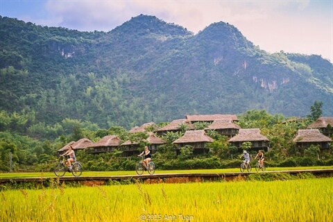
[[[254,170],[254,169],[253,169]],[[244,173],[157,173],[149,175],[145,172],[143,175],[126,175],[126,176],[65,176],[62,178],[44,177],[44,178],[0,178],[0,187],[6,185],[19,185],[21,183],[35,183],[38,185],[48,185],[51,180],[59,182],[77,183],[87,186],[108,185],[108,184],[128,184],[136,180],[144,183],[179,183],[179,182],[203,182],[203,181],[237,181],[246,180],[246,177],[253,173],[289,173],[291,175],[301,175],[302,173],[311,173],[317,178],[333,177],[333,169],[302,169],[292,171],[266,171],[266,172],[244,172]],[[67,174],[69,175],[69,173]],[[84,175],[84,172],[83,172]],[[262,175],[264,176],[264,175]]]

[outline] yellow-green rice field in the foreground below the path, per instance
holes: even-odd
[[[333,178],[1,191],[0,221],[333,221]]]

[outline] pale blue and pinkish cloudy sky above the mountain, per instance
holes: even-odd
[[[333,0],[0,0],[2,17],[78,31],[111,31],[141,14],[194,34],[228,22],[269,53],[333,62]]]

